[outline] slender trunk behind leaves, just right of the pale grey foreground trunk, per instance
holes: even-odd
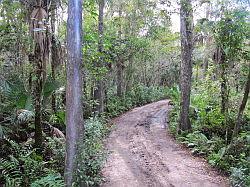
[[[99,0],[99,16],[98,16],[98,52],[101,55],[99,58],[99,62],[97,67],[103,67],[103,10],[105,2],[104,0]],[[96,106],[96,112],[102,113],[104,112],[104,81],[103,78],[100,78],[96,81],[96,90],[94,92],[94,98],[98,101],[98,105]]]

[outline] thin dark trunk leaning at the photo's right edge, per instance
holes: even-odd
[[[250,67],[248,70],[248,77],[247,77],[247,83],[246,83],[246,87],[245,87],[245,91],[244,91],[244,96],[239,108],[239,112],[238,112],[238,117],[237,117],[237,122],[234,126],[234,131],[233,131],[233,137],[236,137],[238,135],[238,133],[240,132],[241,129],[241,120],[242,120],[242,116],[244,113],[244,110],[246,108],[246,104],[248,101],[248,97],[249,97],[249,90],[250,90]]]

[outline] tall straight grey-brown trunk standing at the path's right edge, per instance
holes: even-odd
[[[189,105],[192,78],[193,11],[191,0],[181,0],[181,111],[179,130],[191,129]]]

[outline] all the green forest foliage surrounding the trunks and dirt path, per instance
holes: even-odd
[[[33,46],[27,17],[30,11],[28,6],[34,6],[29,3],[32,2],[2,0],[0,3],[0,186],[2,183],[10,187],[63,186],[64,142],[49,137],[46,132],[43,154],[37,155],[32,147],[35,111],[30,83],[34,81],[34,73],[38,69],[34,69],[32,62],[29,62]],[[62,9],[65,7],[64,3],[62,2]],[[160,8],[159,3],[163,5]],[[169,116],[170,131],[176,134],[180,91],[175,84],[180,81],[180,36],[179,33],[171,32],[170,15],[165,9],[169,6],[168,3],[151,0],[108,1],[104,16],[103,52],[100,52],[98,3],[95,0],[84,1],[85,119],[94,115],[93,108],[97,104],[93,100],[96,81],[102,80],[104,92],[108,92],[105,98],[106,113],[101,114],[102,117],[114,117],[132,107],[168,96],[174,103]],[[49,10],[49,15],[56,8],[54,6],[56,5]],[[209,6],[212,8],[212,1]],[[198,35],[200,44],[193,55],[197,79],[193,84],[196,86],[192,90],[190,106],[193,131],[181,134],[177,139],[186,144],[193,154],[205,156],[211,165],[231,173],[233,185],[249,186],[249,106],[243,115],[242,134],[231,140],[242,96],[240,92],[245,85],[245,74],[249,68],[248,62],[242,62],[247,61],[250,54],[250,29],[247,21],[249,12],[245,9],[233,9],[229,10],[225,6],[219,12],[223,12],[220,19],[210,19],[208,16],[199,20],[196,25],[195,35]],[[117,15],[118,10],[121,11],[120,15]],[[212,9],[208,12],[218,13]],[[210,16],[213,17],[212,14]],[[58,13],[56,17],[60,17]],[[66,22],[58,20],[59,22],[62,24],[56,24],[60,28],[55,28],[58,30],[55,38],[65,43]],[[219,65],[212,63],[214,46],[223,49],[229,64],[226,68],[230,100],[228,116],[220,111],[220,72],[217,70]],[[57,47],[62,48],[58,58],[65,59],[64,46],[58,44]],[[204,52],[206,47],[209,50]],[[209,67],[200,79],[204,57],[208,58]],[[122,63],[122,98],[115,93],[118,82],[117,62]],[[50,65],[43,71],[50,72],[49,67]],[[231,70],[235,71],[234,76],[231,76]],[[64,132],[65,89],[59,88],[66,82],[64,64],[58,64],[54,73],[57,81],[46,75],[43,85],[42,121],[49,122]],[[172,88],[167,89],[166,86]],[[56,112],[51,107],[52,93],[56,96]],[[107,127],[104,121],[91,118],[87,120],[85,129],[78,163],[80,169],[76,175],[78,182],[84,180],[87,185],[94,186],[101,181],[99,171],[106,155],[103,138]],[[232,143],[229,146],[230,141]]]

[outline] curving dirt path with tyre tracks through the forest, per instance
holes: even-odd
[[[167,133],[168,102],[135,108],[113,121],[102,187],[228,186],[203,159],[183,150]]]

